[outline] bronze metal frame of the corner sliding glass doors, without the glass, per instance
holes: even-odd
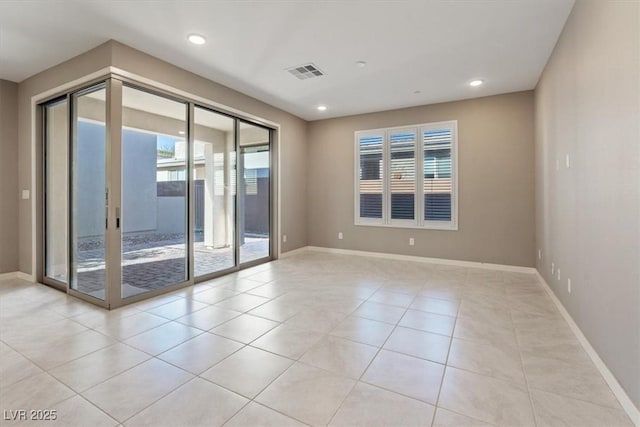
[[[32,106],[34,111],[34,123],[39,124],[34,127],[34,136],[32,147],[35,149],[34,156],[36,156],[36,163],[40,164],[39,171],[34,171],[36,177],[36,190],[37,194],[34,196],[33,206],[36,208],[34,212],[34,225],[33,230],[35,232],[34,243],[34,278],[42,283],[52,286],[56,289],[66,291],[67,294],[75,296],[84,301],[90,302],[95,305],[99,305],[105,308],[118,308],[123,305],[128,305],[141,300],[152,298],[158,295],[170,293],[188,286],[192,286],[196,283],[204,282],[214,279],[216,277],[224,276],[229,273],[237,272],[245,268],[250,268],[265,262],[277,259],[278,253],[276,248],[279,248],[279,218],[280,213],[275,211],[276,200],[279,200],[279,174],[276,173],[274,166],[277,168],[276,156],[278,150],[278,144],[274,141],[279,135],[279,126],[277,124],[271,124],[270,122],[252,118],[250,115],[244,114],[240,111],[235,111],[232,108],[225,108],[225,106],[217,104],[210,100],[203,100],[194,95],[186,94],[181,90],[171,90],[164,88],[165,85],[146,81],[145,78],[136,78],[137,76],[128,75],[129,73],[116,70],[113,67],[109,67],[109,71],[105,74],[96,73],[92,77],[89,77],[82,81],[82,79],[76,81],[74,84],[66,85],[59,88],[59,90],[52,90],[46,96],[34,96],[32,98]],[[106,153],[105,153],[105,170],[107,173],[106,191],[107,196],[107,226],[105,229],[105,298],[101,300],[99,298],[92,297],[90,295],[79,292],[71,288],[71,267],[72,267],[72,242],[71,235],[72,229],[72,178],[73,178],[73,153],[71,150],[73,138],[73,95],[78,92],[95,86],[104,82],[106,85]],[[118,214],[121,212],[122,206],[122,88],[124,85],[147,91],[151,94],[164,96],[167,98],[179,100],[187,105],[187,134],[185,141],[187,142],[186,164],[187,171],[185,173],[185,195],[188,197],[187,209],[187,236],[186,236],[186,271],[187,280],[182,283],[177,283],[169,286],[165,286],[160,289],[145,292],[143,294],[123,298],[122,297],[122,230],[120,227],[116,227],[118,221]],[[46,257],[47,257],[47,245],[46,245],[46,183],[47,183],[47,168],[46,168],[46,123],[45,123],[45,108],[46,105],[54,102],[55,100],[66,99],[68,108],[68,188],[67,188],[67,283],[55,280],[46,276]],[[240,197],[238,197],[238,186],[240,185],[239,168],[236,166],[236,200],[235,200],[235,230],[234,230],[234,257],[235,263],[231,268],[223,269],[211,274],[195,277],[194,268],[194,236],[193,230],[195,226],[195,199],[194,199],[194,185],[193,176],[194,171],[194,158],[192,153],[192,147],[194,144],[195,135],[195,123],[194,123],[194,110],[195,108],[203,108],[216,114],[221,114],[234,119],[234,145],[236,150],[236,164],[240,157],[240,140],[239,140],[239,128],[240,122],[250,124],[252,126],[261,127],[269,133],[269,255],[260,259],[252,260],[246,263],[240,263],[240,244],[239,244],[239,222],[240,215],[238,205],[240,203]],[[114,161],[117,160],[117,161]],[[39,219],[37,218],[39,217]]]

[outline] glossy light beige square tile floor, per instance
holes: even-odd
[[[0,282],[0,406],[2,425],[632,425],[534,275],[320,252],[111,312]]]

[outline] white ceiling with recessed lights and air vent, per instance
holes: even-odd
[[[22,81],[115,39],[316,120],[533,89],[573,3],[2,0],[0,78]],[[327,75],[285,71],[308,62]],[[485,84],[470,88],[474,78]]]

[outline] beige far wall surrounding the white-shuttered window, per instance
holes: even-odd
[[[458,231],[355,226],[354,132],[445,120],[458,121]],[[535,263],[532,92],[312,122],[308,156],[309,245]]]

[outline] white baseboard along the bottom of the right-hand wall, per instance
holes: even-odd
[[[598,369],[598,371],[600,371],[600,374],[609,385],[609,388],[611,388],[611,391],[618,399],[618,402],[620,402],[620,405],[622,406],[624,411],[627,413],[627,415],[629,415],[629,418],[631,418],[631,421],[637,427],[640,427],[640,411],[638,410],[638,408],[636,408],[633,401],[631,401],[627,393],[624,391],[624,389],[618,382],[618,380],[616,380],[616,377],[613,375],[613,373],[611,373],[611,371],[609,370],[607,365],[602,361],[602,359],[600,358],[596,350],[591,346],[591,343],[589,343],[589,340],[587,340],[587,338],[584,336],[584,334],[580,330],[580,327],[573,320],[573,318],[571,317],[567,309],[564,308],[564,305],[562,305],[562,302],[560,301],[560,299],[558,299],[555,292],[553,292],[553,290],[551,289],[547,281],[544,280],[544,277],[542,277],[542,275],[538,270],[536,270],[536,274],[538,275],[538,279],[540,279],[540,283],[542,283],[542,286],[545,288],[545,290],[547,291],[547,293],[555,303],[556,307],[558,307],[560,314],[562,314],[562,317],[564,318],[564,320],[566,320],[567,323],[569,324],[569,327],[575,334],[576,338],[578,339],[578,341],[580,341],[582,348],[584,348],[584,350],[587,352],[587,354],[589,355],[593,363],[596,365],[596,368]]]

